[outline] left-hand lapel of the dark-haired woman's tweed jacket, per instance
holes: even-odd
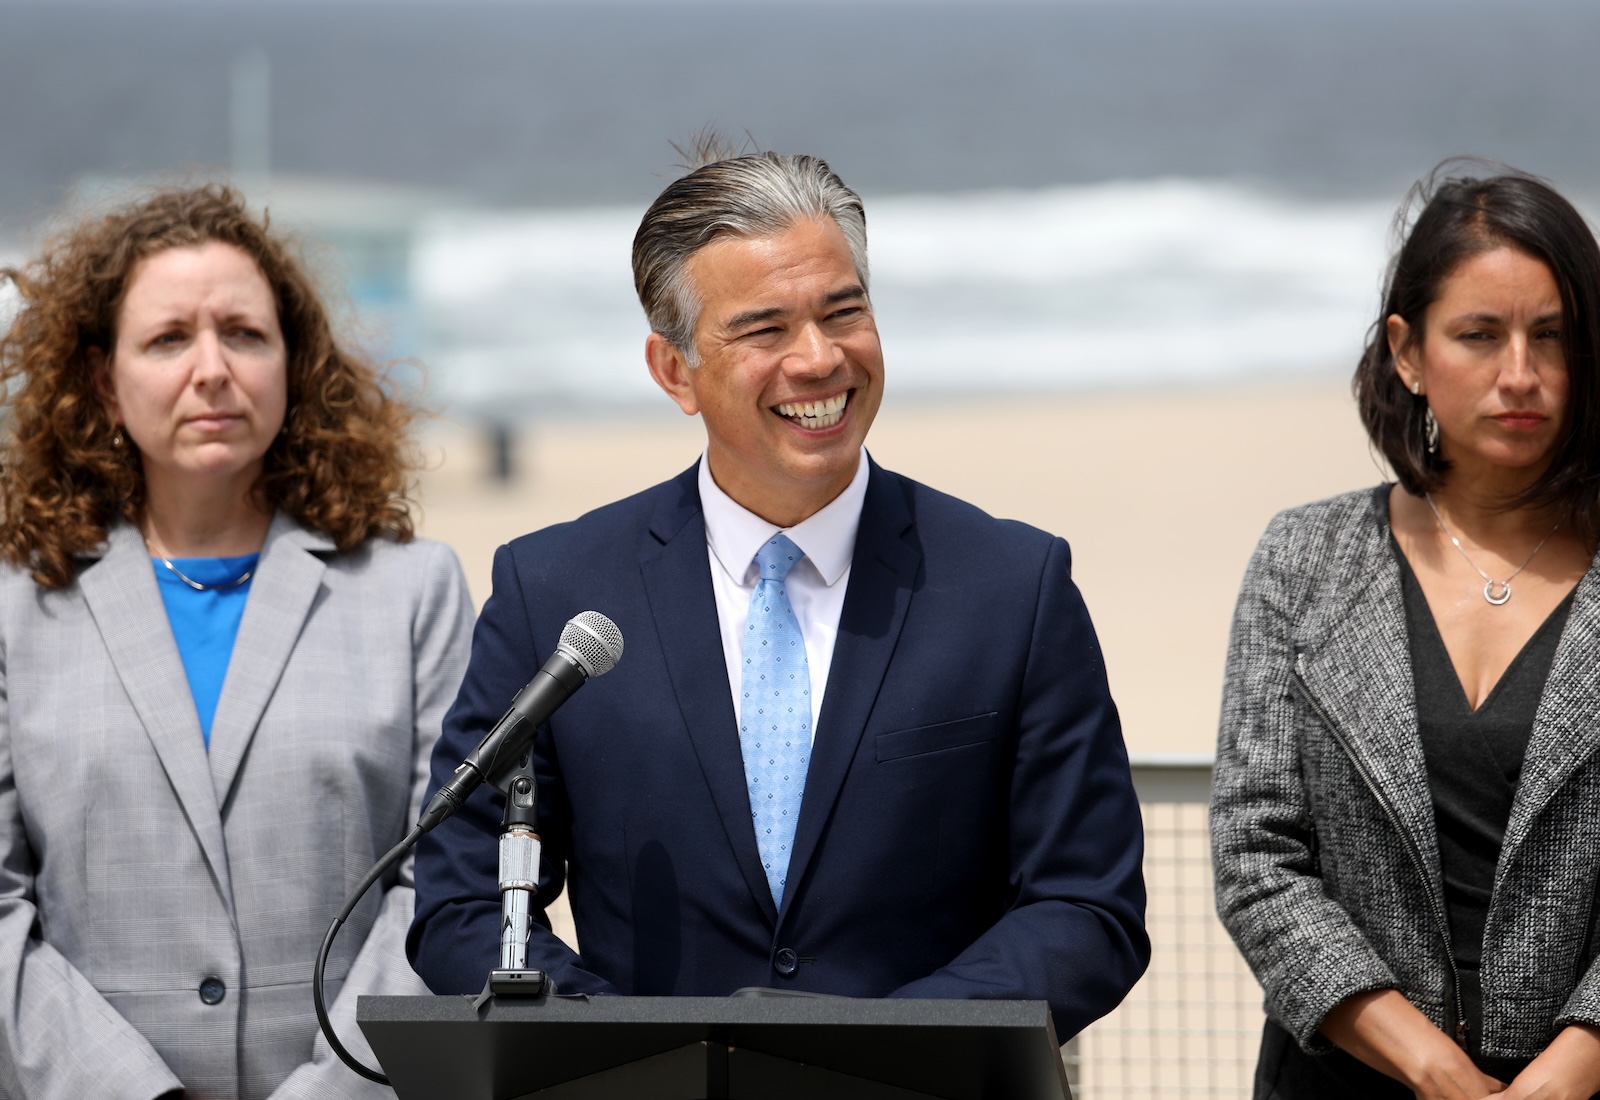
[[[1326,585],[1331,598],[1318,601],[1306,638],[1296,640],[1306,643],[1296,670],[1416,838],[1435,889],[1443,889],[1427,763],[1416,735],[1400,563],[1389,545],[1387,508],[1376,494],[1373,502],[1371,521],[1328,563],[1336,584]]]

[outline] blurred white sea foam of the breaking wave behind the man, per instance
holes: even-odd
[[[869,197],[898,392],[1342,371],[1378,307],[1390,206],[1155,181]],[[525,412],[658,400],[629,246],[640,211],[459,213],[413,288],[442,400]]]

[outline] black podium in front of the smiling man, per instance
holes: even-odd
[[[398,1100],[1070,1100],[1043,1001],[381,998]]]

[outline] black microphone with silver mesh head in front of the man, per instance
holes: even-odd
[[[562,640],[528,686],[517,692],[510,710],[494,723],[478,747],[461,763],[450,782],[429,799],[418,819],[424,833],[461,809],[482,783],[514,767],[533,745],[539,724],[594,676],[603,676],[622,659],[622,632],[598,611],[573,616]]]

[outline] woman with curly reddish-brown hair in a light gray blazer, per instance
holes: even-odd
[[[226,187],[0,277],[0,1095],[392,1095],[310,970],[466,667],[411,412]],[[424,991],[410,921],[406,867],[336,943],[346,1042],[357,994]]]

